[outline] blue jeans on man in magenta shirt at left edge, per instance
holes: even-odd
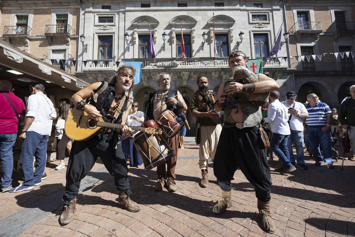
[[[13,151],[15,150],[17,134],[0,134],[0,157],[1,157],[1,187],[9,187],[12,183]]]

